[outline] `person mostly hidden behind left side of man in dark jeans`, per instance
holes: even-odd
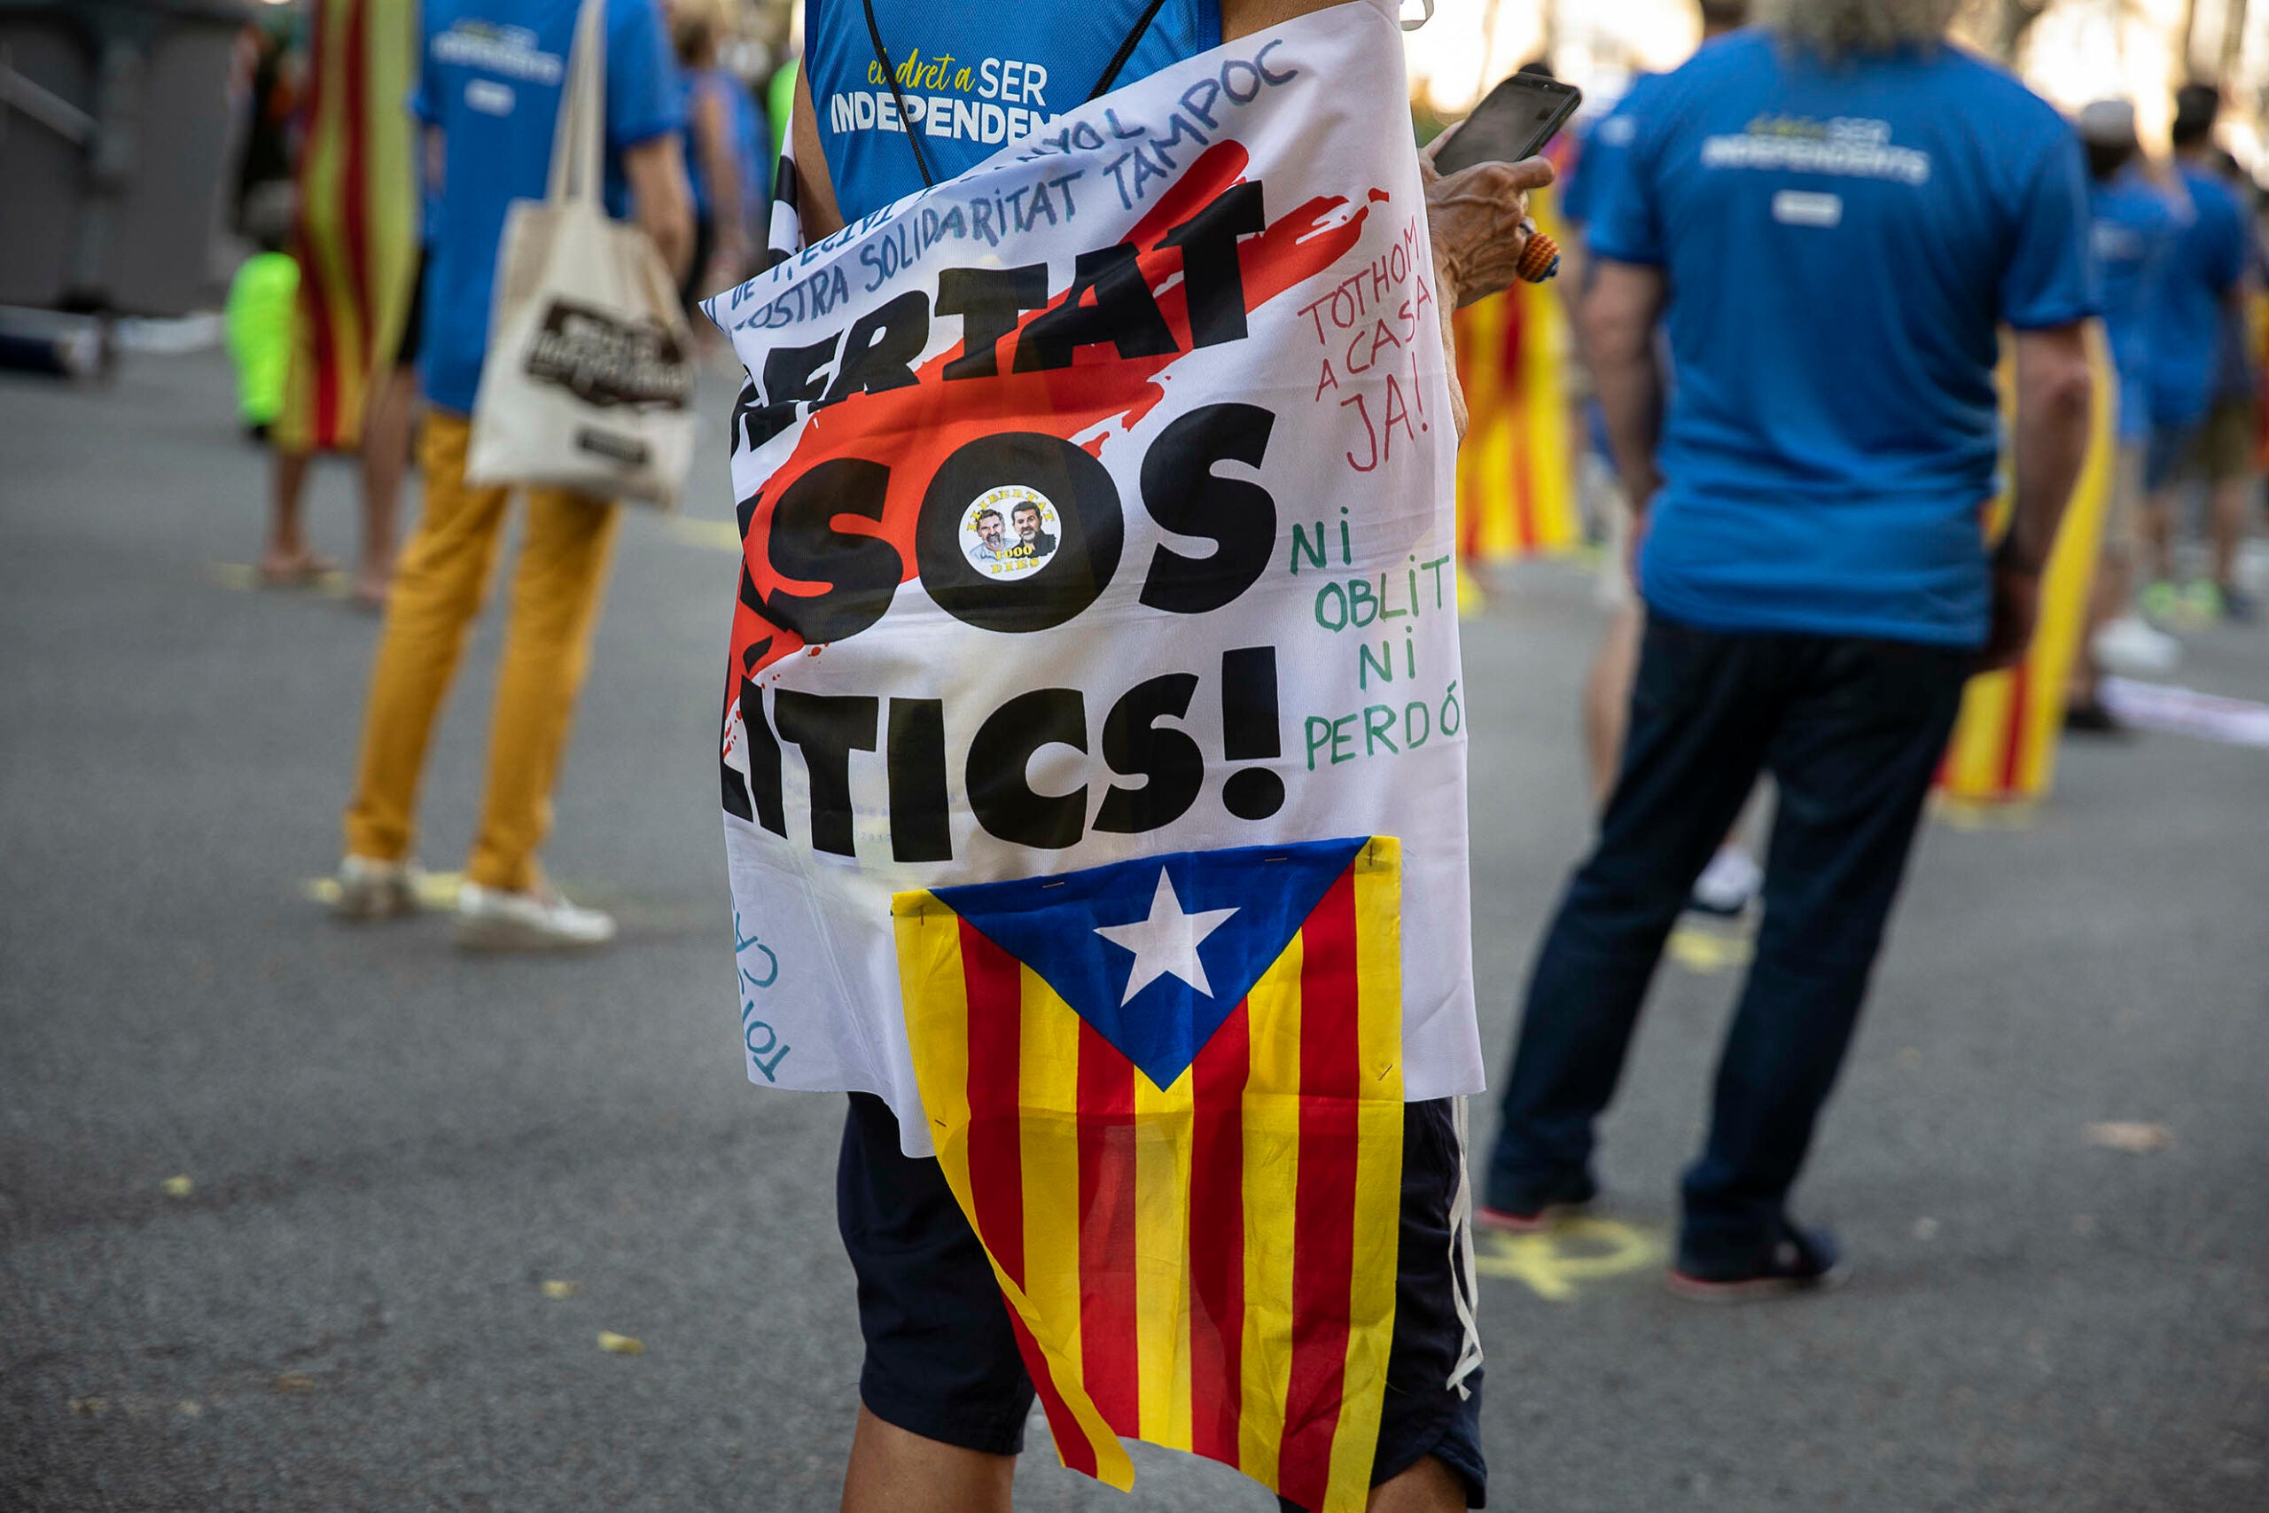
[[[1699,0],[1702,45],[1734,32],[1749,18],[1749,0]],[[1584,293],[1591,288],[1588,259],[1584,254],[1584,231],[1597,215],[1602,184],[1613,184],[1611,161],[1629,147],[1636,122],[1645,113],[1647,88],[1661,75],[1636,73],[1622,100],[1604,118],[1595,120],[1577,138],[1575,161],[1559,191],[1561,218],[1568,222],[1568,238],[1561,247],[1561,295],[1577,315]],[[1622,479],[1609,456],[1606,424],[1600,417],[1600,399],[1588,383],[1591,365],[1584,358],[1584,324],[1572,322],[1577,347],[1577,377],[1570,381],[1572,399],[1581,406],[1584,420],[1575,426],[1584,438],[1586,460],[1597,460],[1595,481],[1602,499],[1602,524],[1606,553],[1600,560],[1600,599],[1609,606],[1606,633],[1600,651],[1584,676],[1584,758],[1591,771],[1591,798],[1606,805],[1616,787],[1616,769],[1622,764],[1622,733],[1631,705],[1631,674],[1638,669],[1638,633],[1645,626],[1645,608],[1631,585],[1631,501]],[[1718,855],[1695,880],[1693,903],[1706,914],[1740,914],[1756,898],[1763,880],[1756,857],[1740,844],[1736,832],[1727,835]]]

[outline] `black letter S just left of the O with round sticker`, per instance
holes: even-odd
[[[812,646],[858,635],[889,610],[905,560],[878,535],[835,529],[837,515],[883,519],[889,470],[867,458],[828,458],[787,485],[771,510],[767,553],[792,583],[826,583],[824,594],[771,590],[765,619]]]

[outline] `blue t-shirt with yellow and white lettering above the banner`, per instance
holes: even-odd
[[[921,188],[908,125],[939,184],[1094,93],[1146,0],[874,0],[910,122],[876,59],[860,0],[805,0],[803,66],[844,220]],[[1221,45],[1218,0],[1166,0],[1119,70],[1132,84]]]

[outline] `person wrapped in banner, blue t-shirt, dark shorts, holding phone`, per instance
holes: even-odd
[[[783,195],[794,197],[808,238],[828,236],[846,218],[976,168],[1114,84],[1327,2],[874,0],[869,9],[805,0],[796,181]],[[1382,120],[1380,129],[1405,127]],[[1525,191],[1550,179],[1550,166],[1529,159],[1479,163],[1429,186],[1443,308],[1511,284],[1527,247]],[[1014,524],[1007,538],[1019,535]],[[1402,1152],[1395,1332],[1370,1474],[1375,1506],[1448,1513],[1479,1506],[1488,1477],[1479,1343],[1452,1261],[1464,1148],[1448,1098],[1407,1105]],[[901,1155],[896,1118],[871,1093],[851,1093],[835,1202],[867,1343],[842,1506],[1005,1511],[1032,1384],[992,1266],[937,1159]]]

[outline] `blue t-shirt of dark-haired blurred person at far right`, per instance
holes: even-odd
[[[2187,426],[2226,390],[2244,392],[2244,338],[2237,352],[2230,295],[2246,277],[2246,213],[2219,175],[2181,166],[2190,191],[2183,227],[2158,274],[2151,333],[2151,422]],[[2235,361],[2233,361],[2235,358]]]

